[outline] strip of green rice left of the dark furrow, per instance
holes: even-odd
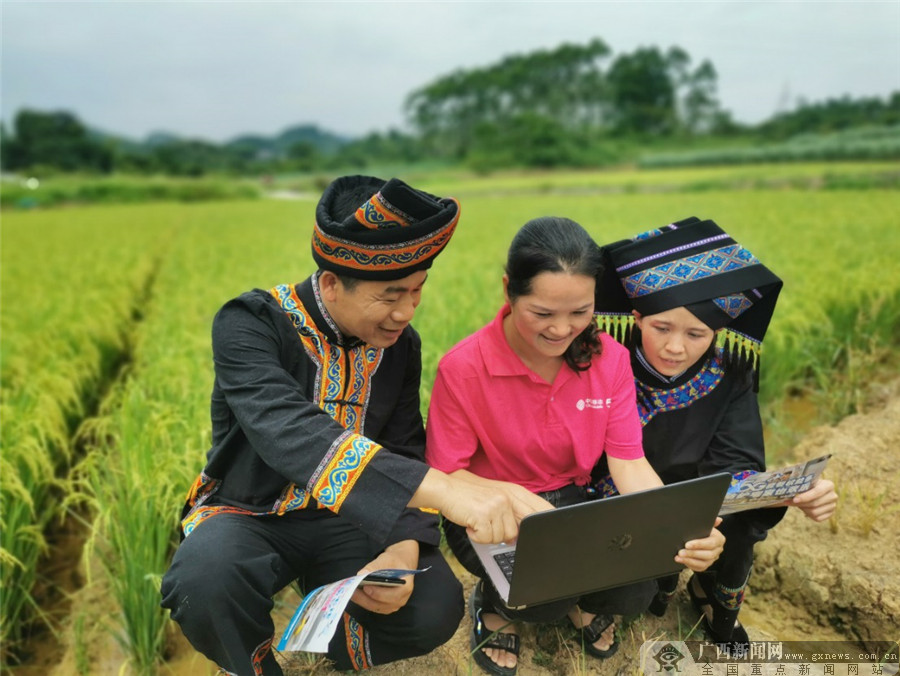
[[[8,214],[0,248],[0,602],[3,661],[30,623],[44,530],[58,514],[71,435],[125,350],[151,235],[85,212]],[[97,265],[98,262],[105,264]]]

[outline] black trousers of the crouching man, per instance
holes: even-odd
[[[175,553],[163,577],[162,606],[194,648],[229,673],[281,676],[272,651],[272,597],[294,580],[311,591],[356,575],[379,552],[359,529],[326,510],[217,514]],[[415,576],[412,596],[396,613],[347,606],[328,649],[336,668],[423,655],[453,636],[463,614],[462,588],[440,551],[420,545],[419,568],[429,566]]]

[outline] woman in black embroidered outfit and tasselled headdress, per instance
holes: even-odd
[[[756,383],[781,286],[712,221],[689,218],[604,247],[599,325],[630,349],[644,452],[665,483],[765,469]],[[603,468],[601,462],[595,476]],[[789,504],[824,521],[836,502],[834,484],[820,479]],[[726,537],[722,556],[691,578],[688,592],[714,641],[749,640],[737,617],[753,546],[784,512],[726,516],[719,527]],[[662,615],[678,576],[658,582],[650,610]]]

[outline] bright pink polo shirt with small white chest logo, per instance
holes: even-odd
[[[605,451],[643,457],[628,350],[601,334],[587,371],[563,365],[548,383],[506,342],[505,305],[438,364],[425,458],[444,472],[517,483],[532,492],[583,485]]]

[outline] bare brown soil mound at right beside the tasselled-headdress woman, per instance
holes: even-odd
[[[817,625],[865,645],[900,638],[900,397],[867,415],[818,428],[796,448],[832,453],[827,476],[840,496],[828,524],[788,510],[757,546],[760,601],[803,608]],[[797,627],[804,632],[806,628]],[[815,627],[809,627],[815,632]]]

